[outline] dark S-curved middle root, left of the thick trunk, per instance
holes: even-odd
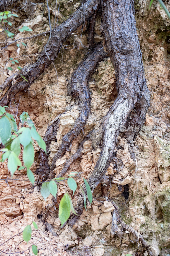
[[[55,162],[61,158],[66,151],[70,151],[71,141],[78,136],[85,126],[90,111],[90,92],[88,88],[88,80],[94,72],[97,64],[103,60],[106,52],[101,45],[97,45],[94,50],[83,60],[78,68],[74,71],[70,82],[70,94],[78,100],[80,115],[75,121],[73,129],[63,136],[62,143],[51,164],[51,174],[55,168]]]

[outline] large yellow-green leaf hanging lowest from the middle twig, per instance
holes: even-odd
[[[69,198],[69,195],[65,193],[60,201],[59,213],[58,213],[58,217],[61,221],[62,226],[70,217],[70,210],[71,210],[70,198]]]

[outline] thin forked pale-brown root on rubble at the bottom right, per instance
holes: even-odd
[[[118,224],[121,224],[121,227],[118,227]],[[148,249],[149,254],[152,255],[152,252],[150,252],[149,244],[144,240],[144,237],[140,233],[138,233],[134,228],[130,227],[128,224],[122,221],[121,216],[118,213],[118,210],[115,209],[113,213],[111,234],[116,234],[117,236],[119,236],[119,238],[121,238],[123,235],[123,230],[127,230],[130,233],[132,233],[137,238],[137,240],[141,241],[141,243]]]

